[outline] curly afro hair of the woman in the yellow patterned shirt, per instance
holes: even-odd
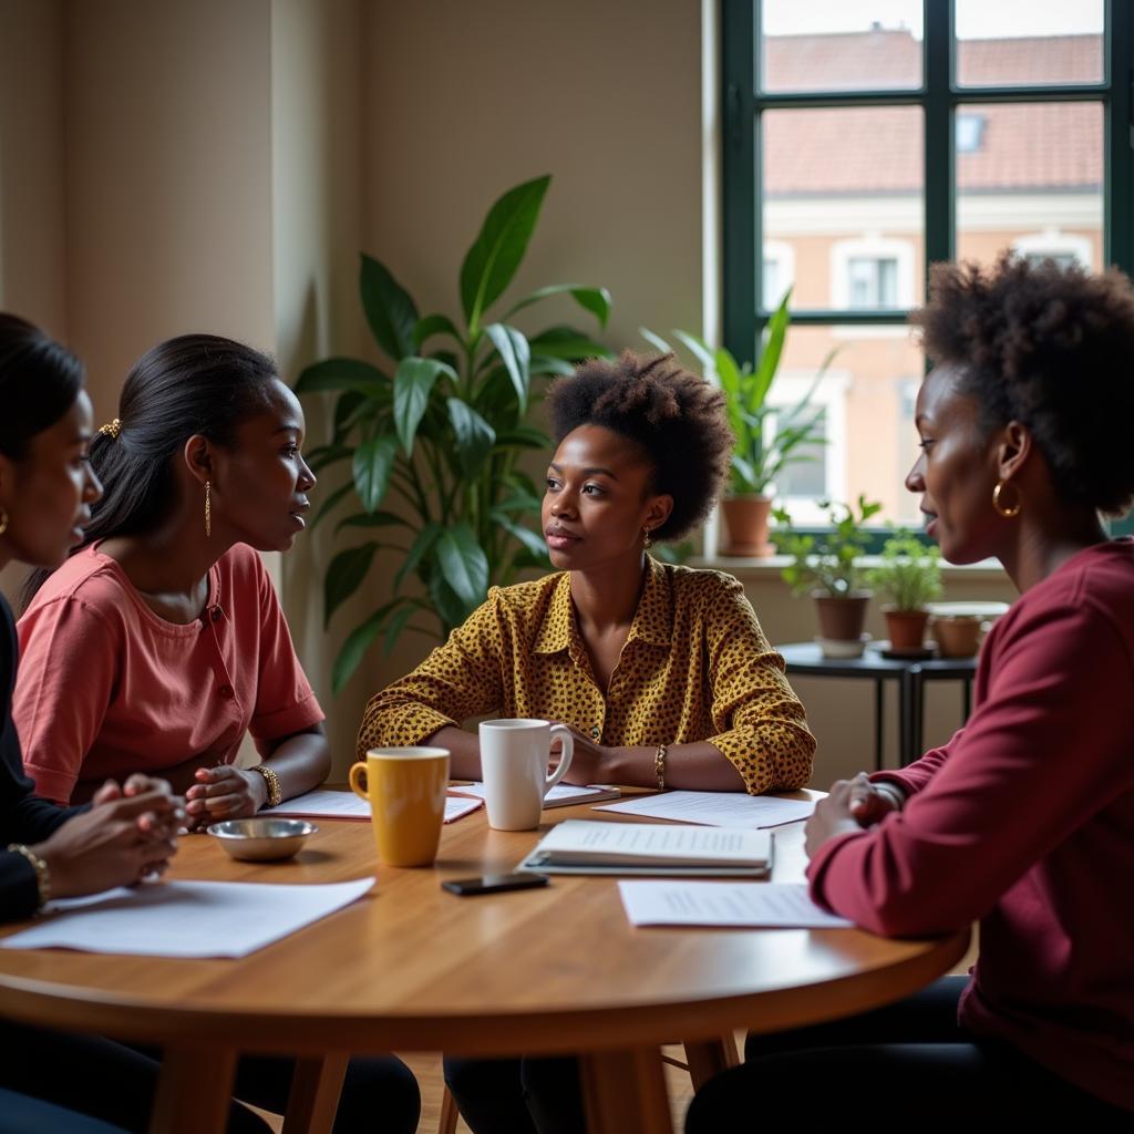
[[[720,390],[671,354],[592,358],[551,387],[548,405],[556,445],[581,425],[601,425],[642,447],[653,466],[652,491],[674,498],[655,540],[679,540],[709,515],[735,439]]]

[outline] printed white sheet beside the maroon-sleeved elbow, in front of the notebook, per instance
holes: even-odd
[[[634,925],[731,925],[750,929],[849,929],[820,909],[803,883],[619,882]]]

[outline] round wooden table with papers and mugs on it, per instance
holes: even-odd
[[[590,807],[544,813],[609,818]],[[626,816],[625,821],[632,821]],[[592,1131],[670,1129],[659,1044],[684,1041],[704,1077],[720,1036],[830,1019],[907,996],[963,956],[968,934],[890,941],[858,930],[635,929],[609,878],[462,898],[445,878],[506,872],[536,833],[446,827],[432,869],[376,868],[370,824],[319,820],[289,863],[235,863],[181,840],[170,877],[332,882],[376,873],[355,905],[239,960],[0,951],[0,1012],[160,1043],[152,1129],[223,1127],[238,1051],[298,1057],[285,1129],[330,1129],[349,1053],[577,1052]],[[803,872],[802,824],[779,828],[777,881]],[[10,932],[15,926],[9,926]]]

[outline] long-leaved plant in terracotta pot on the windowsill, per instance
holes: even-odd
[[[771,514],[776,477],[787,465],[811,460],[803,448],[826,445],[821,408],[811,405],[815,387],[822,380],[836,350],[823,359],[814,381],[796,405],[784,409],[769,404],[772,384],[784,353],[784,341],[792,320],[788,302],[790,288],[768,322],[760,364],[752,369],[741,364],[723,347],[712,350],[703,340],[687,331],[674,331],[699,359],[704,373],[716,372],[725,395],[728,422],[736,435],[733,468],[728,490],[721,501],[727,542],[726,556],[770,556],[776,549],[768,542],[768,519]],[[650,331],[643,336],[662,350],[669,345]],[[770,415],[776,414],[775,428]]]

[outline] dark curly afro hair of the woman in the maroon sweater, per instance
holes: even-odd
[[[930,358],[958,369],[984,429],[1027,426],[1064,500],[1108,515],[1129,508],[1134,294],[1122,272],[1012,253],[990,269],[934,264],[913,322]]]

